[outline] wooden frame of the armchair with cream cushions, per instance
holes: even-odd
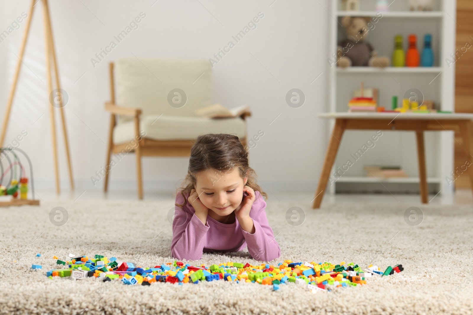
[[[112,153],[135,152],[136,154],[136,176],[138,184],[138,198],[143,199],[143,180],[141,172],[141,157],[142,156],[190,156],[191,147],[194,140],[151,140],[140,137],[140,115],[141,110],[138,108],[126,108],[117,106],[115,104],[115,82],[114,82],[114,63],[109,64],[110,69],[110,102],[105,102],[105,110],[110,112],[110,129],[108,133],[108,145],[105,161],[105,185],[104,192],[108,190],[108,176],[110,170],[107,166],[111,163]],[[131,141],[115,145],[113,142],[114,127],[116,125],[115,115],[132,116],[135,125],[135,139],[138,145],[132,145]],[[245,120],[246,117],[251,116],[250,111],[245,111],[240,117]],[[138,140],[140,139],[140,140]],[[242,144],[246,145],[247,134],[245,130],[245,138],[241,140]],[[134,140],[133,140],[134,141]],[[136,148],[133,148],[136,146]],[[131,147],[130,151],[126,150]]]

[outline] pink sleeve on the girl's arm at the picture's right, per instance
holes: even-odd
[[[251,257],[260,261],[271,261],[279,258],[281,249],[272,232],[272,228],[266,218],[266,202],[259,191],[255,192],[256,200],[250,211],[250,218],[253,219],[254,233],[250,234],[241,230],[248,246]]]

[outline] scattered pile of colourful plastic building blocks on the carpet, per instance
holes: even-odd
[[[52,269],[46,275],[53,277],[71,277],[81,280],[87,277],[95,277],[103,281],[120,280],[130,285],[151,285],[154,282],[170,283],[199,283],[201,281],[236,281],[256,282],[259,284],[272,285],[273,290],[278,290],[280,284],[294,282],[305,286],[312,293],[321,290],[332,290],[336,287],[357,286],[366,284],[366,279],[372,275],[385,276],[394,272],[403,271],[401,264],[387,267],[381,271],[377,266],[369,265],[365,270],[358,264],[330,264],[330,263],[302,263],[285,260],[275,265],[240,264],[228,262],[226,264],[213,264],[192,266],[182,262],[174,261],[156,265],[153,268],[135,266],[135,264],[117,260],[115,257],[108,259],[103,255],[95,255],[94,258],[87,256],[74,257],[69,255],[70,260],[60,260],[56,264],[64,266],[60,269]],[[36,265],[32,268],[35,269]],[[41,266],[40,266],[41,267]],[[37,268],[37,267],[36,267]]]

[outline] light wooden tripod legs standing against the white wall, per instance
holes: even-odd
[[[8,97],[8,102],[7,102],[7,107],[5,110],[5,117],[3,119],[3,127],[1,131],[1,137],[0,137],[0,146],[3,146],[3,142],[5,140],[5,135],[7,133],[7,127],[8,127],[8,122],[9,122],[9,116],[10,116],[10,111],[11,111],[11,105],[13,103],[13,98],[15,96],[15,91],[17,88],[18,84],[18,75],[20,72],[21,64],[22,64],[22,59],[23,55],[25,52],[25,46],[26,46],[26,40],[28,39],[28,34],[29,34],[29,29],[31,25],[31,20],[33,18],[33,10],[35,7],[35,4],[39,1],[43,2],[43,19],[44,19],[44,40],[45,40],[45,50],[46,50],[46,73],[47,73],[47,79],[48,79],[48,95],[51,94],[53,91],[53,79],[51,76],[51,59],[53,60],[53,67],[54,67],[54,76],[56,77],[56,86],[57,88],[61,88],[61,85],[59,84],[59,73],[58,73],[58,67],[56,63],[56,53],[54,51],[54,43],[53,43],[53,31],[51,29],[51,20],[49,17],[49,9],[48,9],[48,0],[32,0],[31,1],[31,7],[29,9],[29,16],[28,20],[26,22],[26,29],[25,33],[23,34],[23,39],[22,43],[20,46],[20,52],[18,54],[18,62],[17,62],[17,67],[15,70],[15,75],[13,77],[13,82],[11,84],[10,88],[10,93]],[[64,110],[62,107],[62,97],[59,98],[59,110],[61,112],[61,121],[62,121],[62,132],[64,134],[64,141],[66,143],[66,155],[67,155],[67,162],[69,166],[69,176],[70,176],[70,187],[71,189],[74,189],[74,180],[72,179],[72,168],[70,165],[70,154],[69,154],[69,142],[67,140],[67,130],[66,130],[66,121],[64,119]],[[51,132],[53,136],[53,158],[54,158],[54,170],[56,174],[56,192],[59,194],[60,192],[60,185],[59,185],[59,168],[58,168],[58,157],[57,157],[57,146],[56,146],[56,123],[54,120],[54,106],[52,104],[49,104],[48,100],[48,106],[49,106],[49,114],[50,114],[50,119],[51,119]]]

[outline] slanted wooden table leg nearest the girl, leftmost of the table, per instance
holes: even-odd
[[[324,198],[324,190],[327,186],[327,181],[330,177],[330,170],[332,170],[333,162],[335,162],[338,146],[341,144],[340,141],[342,140],[343,131],[345,131],[346,124],[346,119],[335,120],[332,137],[330,138],[327,153],[325,154],[324,167],[320,173],[319,185],[317,186],[317,190],[315,190],[314,204],[312,205],[313,209],[320,208],[322,198]]]

